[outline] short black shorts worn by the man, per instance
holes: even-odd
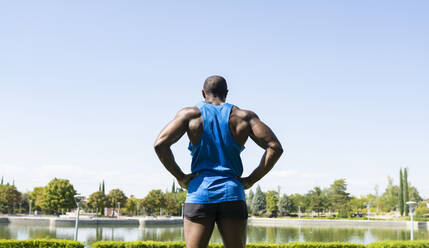
[[[247,219],[247,206],[244,201],[196,204],[185,203],[183,214],[186,219],[206,217]]]

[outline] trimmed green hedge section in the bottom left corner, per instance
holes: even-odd
[[[61,239],[0,239],[0,248],[84,248],[82,242]]]

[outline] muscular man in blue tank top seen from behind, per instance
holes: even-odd
[[[247,207],[244,190],[265,176],[283,153],[271,129],[252,111],[226,103],[226,81],[206,79],[204,101],[180,110],[161,131],[155,151],[180,186],[188,189],[184,206],[187,248],[206,248],[216,223],[225,248],[246,245]],[[192,155],[191,174],[184,174],[170,146],[187,133]],[[241,177],[240,152],[250,137],[265,153],[259,166]]]

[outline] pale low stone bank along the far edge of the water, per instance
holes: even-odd
[[[74,225],[75,218],[55,216],[1,216],[0,223],[9,224],[47,224],[50,226]],[[182,217],[122,217],[116,218],[81,218],[80,225],[183,225]],[[252,226],[271,227],[326,227],[326,228],[398,228],[410,229],[411,221],[383,220],[323,220],[323,219],[282,219],[250,217],[248,224]],[[428,230],[429,222],[415,221],[414,230]]]

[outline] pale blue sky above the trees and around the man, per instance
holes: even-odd
[[[144,196],[173,178],[152,149],[177,110],[226,77],[285,154],[260,185],[429,197],[428,1],[1,1],[0,176],[106,180]],[[174,146],[185,171],[184,137]],[[263,151],[246,144],[245,174]]]

